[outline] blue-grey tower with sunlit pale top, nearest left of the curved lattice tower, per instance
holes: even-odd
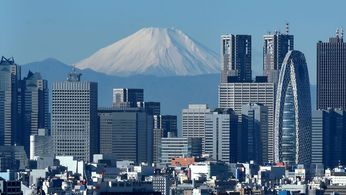
[[[268,107],[260,103],[242,106],[242,161],[268,162]]]

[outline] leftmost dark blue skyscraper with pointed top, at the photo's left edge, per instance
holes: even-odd
[[[13,57],[0,61],[0,145],[22,145],[19,82],[21,69]],[[27,151],[28,153],[29,151]]]

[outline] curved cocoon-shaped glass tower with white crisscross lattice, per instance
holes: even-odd
[[[311,163],[311,96],[305,56],[289,51],[277,86],[274,124],[274,160]]]

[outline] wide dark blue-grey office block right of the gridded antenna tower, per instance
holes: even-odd
[[[153,163],[154,119],[143,108],[99,108],[100,152]]]

